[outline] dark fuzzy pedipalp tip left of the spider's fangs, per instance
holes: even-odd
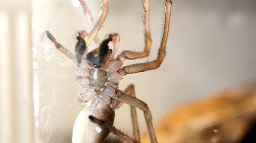
[[[76,60],[77,60],[77,63],[80,64],[83,53],[84,51],[86,51],[86,42],[79,36],[77,36],[76,39],[78,40],[75,46]]]

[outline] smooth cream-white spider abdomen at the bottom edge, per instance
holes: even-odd
[[[102,143],[110,131],[92,122],[89,117],[98,118],[110,126],[114,123],[115,111],[108,104],[101,102],[98,96],[89,100],[76,118],[72,142],[73,143]]]

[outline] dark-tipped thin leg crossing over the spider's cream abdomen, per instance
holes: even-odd
[[[125,133],[123,133],[122,131],[118,130],[115,126],[110,126],[108,123],[106,123],[103,120],[97,119],[93,116],[89,116],[90,120],[94,123],[99,124],[101,127],[108,129],[110,132],[112,132],[113,134],[122,137],[125,142],[128,143],[139,143],[139,141],[129,137],[128,135],[126,135]]]

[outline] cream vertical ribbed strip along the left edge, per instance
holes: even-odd
[[[0,142],[34,142],[31,1],[0,0]]]

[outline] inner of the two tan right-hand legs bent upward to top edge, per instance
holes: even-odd
[[[131,50],[124,50],[121,54],[125,56],[126,59],[138,59],[148,56],[150,53],[151,48],[151,36],[150,36],[150,15],[149,15],[149,0],[142,0],[143,8],[145,11],[144,15],[144,25],[145,25],[145,47],[144,50],[141,52],[131,51]]]

